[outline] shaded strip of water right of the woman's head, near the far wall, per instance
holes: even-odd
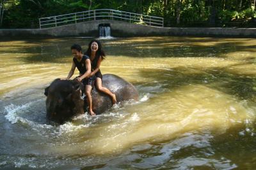
[[[116,42],[116,43],[115,43]],[[226,58],[228,52],[252,51],[256,45],[246,45],[246,41],[221,40],[218,38],[145,38],[140,42],[132,39],[118,43],[118,40],[106,43],[105,49],[113,56],[129,57],[214,57]],[[117,50],[122,49],[122,50]]]

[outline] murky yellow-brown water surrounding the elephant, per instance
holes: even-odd
[[[101,40],[102,72],[134,84],[140,101],[47,125],[44,88],[67,77],[70,45],[89,41],[1,40],[1,168],[256,167],[255,39]]]

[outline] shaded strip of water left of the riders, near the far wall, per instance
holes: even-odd
[[[17,39],[15,40],[1,40],[0,54],[27,54],[20,57],[20,60],[27,63],[34,62],[49,62],[49,63],[63,63],[61,59],[72,58],[70,47],[74,43],[82,45],[84,50],[91,39],[86,38],[55,38],[55,39]],[[15,44],[13,45],[13,41]]]

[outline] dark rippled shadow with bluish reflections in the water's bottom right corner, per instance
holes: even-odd
[[[255,128],[250,128],[251,132],[243,132],[246,128],[248,129],[242,124],[228,128],[219,135],[188,133],[172,142],[148,144],[144,150],[132,151],[136,159],[129,162],[127,168],[253,169],[256,166],[256,137],[252,135],[253,132],[255,134]]]

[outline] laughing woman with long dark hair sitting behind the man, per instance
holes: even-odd
[[[95,76],[95,86],[96,88],[103,93],[106,93],[111,97],[112,103],[116,104],[116,95],[114,93],[111,93],[111,91],[108,88],[102,87],[102,74],[100,72],[100,63],[103,59],[105,59],[105,52],[102,50],[102,46],[98,40],[92,40],[88,44],[88,49],[84,53],[86,56],[90,57],[91,65],[92,65],[92,72],[90,73],[89,77]],[[88,91],[87,91],[88,90]],[[86,89],[86,93],[91,93],[92,88]],[[95,114],[92,110],[90,111],[90,114]]]

